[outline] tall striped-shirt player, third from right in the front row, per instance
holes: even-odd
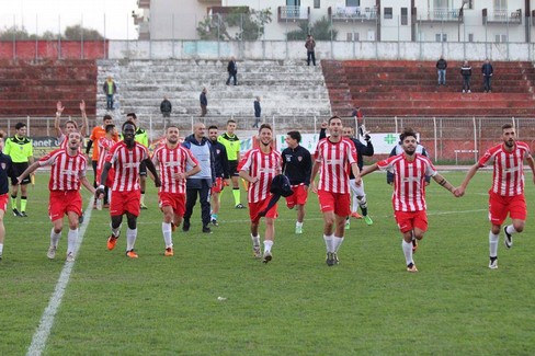
[[[316,149],[316,162],[310,176],[310,190],[318,194],[323,214],[323,240],[327,248],[326,263],[333,266],[340,262],[338,251],[344,239],[345,217],[351,215],[349,166],[361,183],[355,146],[342,136],[342,119],[329,118],[330,136],[321,139]],[[319,183],[315,179],[319,172]]]

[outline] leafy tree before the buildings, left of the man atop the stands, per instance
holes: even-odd
[[[215,13],[204,18],[197,25],[201,39],[257,41],[263,36],[265,24],[271,22],[271,10],[252,10],[236,7],[227,14]],[[238,27],[234,35],[231,30]]]

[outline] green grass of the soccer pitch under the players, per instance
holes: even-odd
[[[464,173],[444,175],[457,185]],[[533,211],[531,173],[526,177]],[[125,231],[117,248],[106,250],[107,211],[92,210],[44,354],[534,354],[535,223],[528,218],[511,251],[501,238],[500,268],[490,271],[490,179],[479,172],[460,199],[434,183],[429,187],[430,228],[416,254],[418,274],[405,271],[391,188],[379,173],[365,179],[375,223],[352,221],[333,267],[325,264],[314,194],[303,236],[293,233],[295,211],[280,205],[268,265],[252,257],[248,211],[232,208],[228,191],[220,227],[201,233],[197,206],[191,231],[174,233],[170,259],[163,257],[155,188],[138,220],[138,260],[124,255]],[[26,353],[64,266],[66,231],[58,259],[46,257],[46,181],[38,176],[29,194],[30,218],[5,218],[1,355]]]

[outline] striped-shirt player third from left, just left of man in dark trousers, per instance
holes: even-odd
[[[163,213],[161,223],[166,242],[163,255],[172,256],[174,254],[172,231],[175,227],[180,227],[185,211],[185,180],[200,172],[201,166],[192,152],[179,145],[179,128],[173,125],[167,128],[166,143],[155,150],[152,163],[159,165],[161,176],[158,197]]]

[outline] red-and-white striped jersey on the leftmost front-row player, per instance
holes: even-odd
[[[38,160],[39,166],[50,165],[50,191],[79,191],[80,179],[86,176],[88,160],[78,152],[69,156],[66,149],[58,149],[42,157]]]

